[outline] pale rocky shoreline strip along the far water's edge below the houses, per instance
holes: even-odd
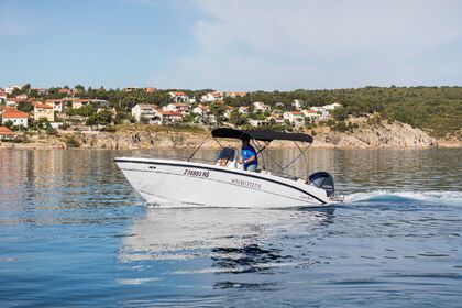
[[[191,148],[200,144],[207,132],[66,132],[57,136],[33,135],[26,143],[2,142],[0,148],[94,148],[94,150],[138,150],[138,148]],[[381,147],[462,147],[461,141],[437,140],[419,129],[398,122],[360,125],[353,133],[322,131],[316,133],[312,147],[332,148],[381,148]],[[222,144],[232,141],[223,141]],[[204,148],[219,148],[209,138]],[[294,147],[293,142],[275,141],[272,147]]]

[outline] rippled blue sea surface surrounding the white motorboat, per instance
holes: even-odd
[[[112,161],[188,153],[0,150],[0,307],[462,307],[461,150],[311,150],[316,209],[153,208]]]

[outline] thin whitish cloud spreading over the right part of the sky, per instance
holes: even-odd
[[[444,76],[426,56],[462,34],[455,0],[191,2],[206,15],[196,50],[166,77],[199,88],[438,84]]]

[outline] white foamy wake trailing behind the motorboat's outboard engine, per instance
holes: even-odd
[[[345,196],[345,202],[428,201],[462,206],[462,191],[391,191],[375,190]]]

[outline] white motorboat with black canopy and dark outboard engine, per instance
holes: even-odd
[[[217,139],[250,139],[257,155],[262,155],[274,140],[294,141],[300,154],[292,163],[312,143],[308,134],[270,130],[220,128],[212,131],[212,136],[217,142]],[[264,168],[244,170],[238,164],[238,152],[233,147],[222,147],[211,164],[196,162],[194,156],[204,142],[184,161],[144,157],[117,157],[114,161],[148,204],[162,207],[319,207],[339,200],[334,197],[333,178],[326,172],[305,179]],[[297,142],[308,146],[302,150]]]

